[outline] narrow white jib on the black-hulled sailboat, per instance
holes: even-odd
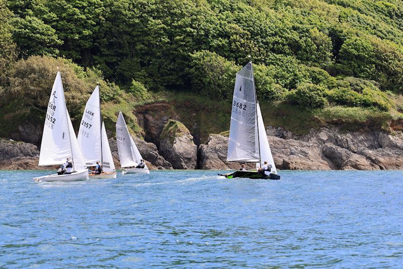
[[[259,148],[260,148],[260,162],[256,163],[256,168],[262,167],[264,161],[271,166],[271,173],[277,174],[276,165],[274,164],[272,151],[268,144],[266,130],[264,128],[263,117],[261,116],[259,103],[256,104],[257,111],[257,126],[259,128]]]

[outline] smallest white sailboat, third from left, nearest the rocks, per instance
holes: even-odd
[[[140,160],[143,159],[129,134],[122,112],[119,112],[116,121],[116,143],[119,152],[120,167],[136,167],[140,163]],[[144,168],[124,169],[122,174],[150,174],[150,170],[146,165]]]

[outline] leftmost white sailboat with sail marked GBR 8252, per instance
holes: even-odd
[[[73,173],[35,177],[35,181],[79,181],[88,179],[88,170],[66,108],[60,72],[54,80],[43,127],[39,166],[61,165],[72,158]]]

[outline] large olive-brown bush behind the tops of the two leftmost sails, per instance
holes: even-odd
[[[57,71],[61,73],[66,104],[73,121],[81,119],[85,103],[97,82],[102,98],[110,100],[119,92],[116,86],[102,79],[99,71],[85,72],[79,65],[62,58],[31,56],[19,60],[11,71],[10,85],[0,96],[0,106],[10,107],[3,117],[42,121]]]

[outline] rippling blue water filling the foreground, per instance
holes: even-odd
[[[45,172],[48,173],[48,172]],[[0,171],[0,267],[399,267],[402,171],[33,183]]]

